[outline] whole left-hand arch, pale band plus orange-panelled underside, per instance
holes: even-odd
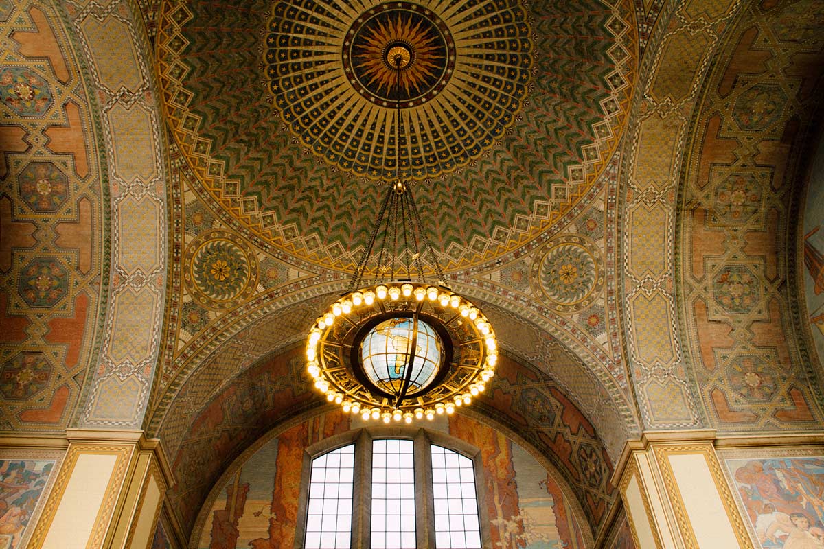
[[[0,271],[16,283],[0,292],[11,328],[0,368],[35,371],[0,399],[7,429],[143,419],[164,301],[166,207],[138,17],[125,0],[82,12],[59,2],[3,8],[0,78],[22,86],[23,100],[4,103]]]

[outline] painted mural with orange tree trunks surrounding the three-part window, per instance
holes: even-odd
[[[195,526],[195,533],[199,531],[197,547],[292,547],[303,449],[325,437],[367,425],[359,418],[330,412],[293,426],[260,445],[239,468],[230,470],[219,490],[208,498],[208,512],[201,513]],[[493,547],[585,547],[569,500],[527,450],[466,416],[438,418],[427,427],[480,449]]]

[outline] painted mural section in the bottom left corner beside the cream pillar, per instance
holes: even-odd
[[[54,470],[54,459],[0,460],[0,549],[23,546],[32,514]]]

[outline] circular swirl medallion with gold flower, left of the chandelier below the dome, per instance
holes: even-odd
[[[208,231],[186,248],[183,278],[191,295],[210,309],[231,309],[255,293],[257,259],[236,235]]]

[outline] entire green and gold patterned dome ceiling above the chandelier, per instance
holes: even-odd
[[[241,235],[350,270],[400,147],[454,270],[580,205],[623,132],[632,18],[588,0],[169,3],[158,63],[196,190]]]

